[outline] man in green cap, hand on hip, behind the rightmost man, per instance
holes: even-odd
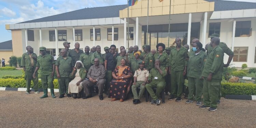
[[[215,38],[215,37],[218,37],[219,38],[219,34],[216,34],[216,33],[213,33],[212,35],[211,35],[211,40],[213,39],[213,38]],[[224,64],[224,67],[225,68],[227,68],[228,66],[229,66],[229,64],[230,64],[230,62],[231,62],[231,60],[233,59],[233,57],[234,57],[234,53],[231,51],[231,49],[226,45],[226,43],[224,43],[224,42],[220,42],[219,43],[219,47],[221,47],[222,48],[222,50],[223,50],[223,52],[224,53],[226,53],[229,57],[228,57],[228,62],[227,62],[227,64]],[[211,46],[211,45],[209,45],[208,47],[207,47],[207,52],[208,52],[208,55],[210,55],[211,54],[211,52],[212,52],[212,50],[213,50],[213,47]],[[223,68],[223,67],[222,67]],[[216,101],[218,104],[220,104],[221,103],[221,86],[219,86],[219,97],[218,97],[218,100]]]

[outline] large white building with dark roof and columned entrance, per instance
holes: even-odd
[[[53,54],[64,48],[64,41],[71,42],[71,49],[75,42],[79,42],[80,48],[100,45],[103,51],[104,46],[111,44],[115,44],[117,48],[133,45],[141,48],[146,44],[147,37],[148,44],[156,49],[156,44],[160,42],[168,46],[169,12],[169,46],[176,37],[182,38],[183,44],[190,44],[191,40],[198,38],[205,45],[210,42],[211,33],[218,33],[221,42],[225,42],[234,51],[231,63],[235,67],[241,67],[243,63],[247,63],[248,67],[256,67],[256,3],[250,2],[140,0],[129,7],[129,18],[127,5],[115,5],[76,10],[5,27],[12,31],[15,56],[26,52],[26,45],[34,47],[37,55],[39,51],[36,49],[40,46],[45,46],[47,52]],[[225,54],[224,63],[227,59]]]

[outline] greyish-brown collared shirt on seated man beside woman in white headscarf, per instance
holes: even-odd
[[[95,65],[91,66],[89,71],[87,72],[87,77],[91,77],[92,79],[103,79],[105,77],[106,70],[103,65],[99,65],[96,67]]]

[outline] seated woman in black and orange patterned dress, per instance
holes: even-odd
[[[109,97],[111,101],[120,99],[123,102],[131,87],[131,68],[126,66],[126,60],[120,60],[121,65],[117,66],[112,72],[113,80],[110,82]]]

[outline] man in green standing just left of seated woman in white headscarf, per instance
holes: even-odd
[[[55,64],[59,83],[59,98],[64,97],[65,91],[67,97],[71,97],[71,95],[68,94],[68,87],[70,82],[69,74],[72,72],[73,67],[74,65],[72,64],[72,59],[71,57],[67,56],[66,49],[61,50],[60,57],[57,59]]]

